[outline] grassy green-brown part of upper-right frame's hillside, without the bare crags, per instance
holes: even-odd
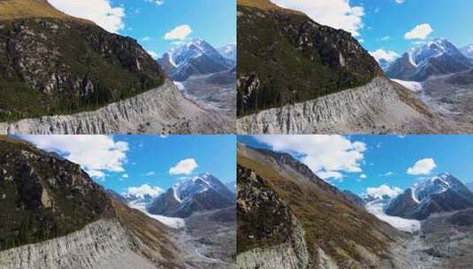
[[[244,89],[239,88],[239,117],[361,86],[376,73],[347,72],[345,68],[326,65],[326,56],[332,53],[327,44],[298,49],[298,37],[287,35],[283,29],[292,25],[303,35],[317,35],[313,31],[318,31],[308,27],[311,19],[301,12],[281,9],[263,0],[239,1],[238,11],[238,76],[256,73],[262,84],[247,104],[242,102]],[[326,35],[329,43],[338,42],[332,34],[321,35]],[[370,60],[369,56],[363,58],[367,65],[372,64]],[[366,65],[355,68],[358,67],[366,68]]]

